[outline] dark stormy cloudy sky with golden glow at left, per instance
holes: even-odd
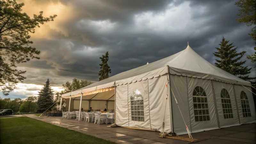
[[[99,80],[99,57],[109,51],[110,76],[184,50],[189,45],[214,64],[222,36],[254,52],[251,28],[236,21],[239,8],[232,0],[17,0],[29,16],[44,11],[58,17],[36,28],[31,40],[40,60],[19,64],[27,79],[0,97],[36,96],[50,79],[55,92],[73,78]],[[247,60],[246,66],[253,64]],[[255,76],[255,68],[251,76]]]

